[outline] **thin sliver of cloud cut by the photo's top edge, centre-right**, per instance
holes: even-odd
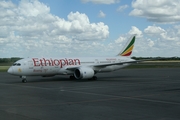
[[[81,0],[84,3],[92,2],[94,4],[115,4],[119,3],[120,0]]]

